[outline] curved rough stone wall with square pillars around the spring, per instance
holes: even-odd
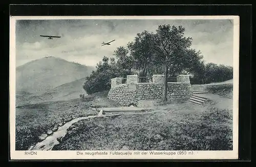
[[[111,88],[108,94],[109,99],[128,106],[130,104],[138,105],[143,100],[158,100],[162,98],[163,75],[153,75],[152,83],[138,83],[136,75],[127,76],[127,81],[129,80],[128,78],[132,79],[127,84],[120,84]],[[191,94],[191,85],[186,79],[183,82],[168,82],[167,99],[189,98]]]

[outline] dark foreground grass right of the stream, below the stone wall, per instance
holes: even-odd
[[[232,112],[189,103],[75,124],[54,150],[231,150]]]

